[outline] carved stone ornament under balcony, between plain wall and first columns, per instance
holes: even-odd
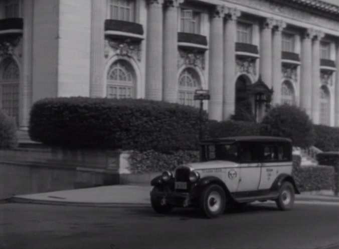
[[[131,42],[129,39],[124,41],[114,41],[111,39],[105,40],[105,57],[107,58],[110,51],[113,51],[115,54],[121,56],[128,56],[136,58],[138,61],[141,61],[141,48],[138,42]]]

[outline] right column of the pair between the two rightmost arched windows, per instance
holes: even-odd
[[[319,98],[320,98],[320,39],[324,36],[322,31],[316,30],[312,44],[312,120],[319,123]]]

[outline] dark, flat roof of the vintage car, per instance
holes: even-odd
[[[229,136],[229,137],[211,137],[200,141],[200,143],[223,143],[223,142],[236,142],[236,141],[257,141],[257,142],[292,142],[291,139],[279,136]]]

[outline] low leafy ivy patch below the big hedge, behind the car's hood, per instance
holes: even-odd
[[[174,170],[177,166],[188,162],[199,161],[198,150],[179,150],[172,153],[161,153],[155,150],[143,152],[132,151],[128,160],[132,173],[162,172]]]

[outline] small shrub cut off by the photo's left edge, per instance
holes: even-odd
[[[16,122],[0,109],[0,148],[14,148],[17,144]]]

